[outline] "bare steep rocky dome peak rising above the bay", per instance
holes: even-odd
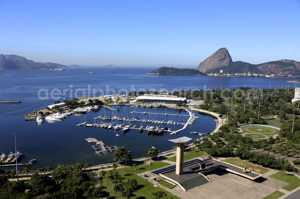
[[[208,70],[213,70],[215,68],[228,66],[231,62],[232,59],[228,50],[226,48],[220,48],[211,56],[206,58],[203,62],[201,62],[196,70],[205,72]]]

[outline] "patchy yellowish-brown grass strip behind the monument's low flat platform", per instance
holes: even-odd
[[[228,158],[228,159],[223,160],[223,161],[227,162],[227,163],[230,163],[230,164],[233,164],[235,166],[239,166],[241,168],[244,168],[246,166],[246,168],[249,169],[250,171],[253,171],[253,172],[256,172],[256,173],[259,173],[259,174],[263,174],[263,173],[269,171],[268,168],[265,168],[263,166],[247,162],[246,160],[241,160],[238,157]]]

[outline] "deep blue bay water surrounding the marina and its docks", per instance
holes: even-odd
[[[155,70],[155,68],[97,68],[97,67],[82,67],[76,69],[67,69],[67,71],[35,71],[35,70],[0,70],[0,100],[20,100],[18,104],[1,104],[0,103],[0,152],[9,153],[14,151],[13,132],[17,132],[17,149],[22,151],[21,163],[27,162],[31,158],[36,158],[38,162],[32,166],[32,169],[44,167],[46,165],[55,168],[59,163],[74,164],[76,162],[89,162],[92,165],[113,162],[113,153],[97,155],[91,148],[92,143],[85,141],[85,138],[95,137],[103,141],[108,146],[125,146],[131,151],[132,157],[142,157],[151,146],[155,146],[161,151],[172,149],[173,143],[168,141],[177,137],[188,136],[197,138],[190,134],[190,131],[206,132],[212,131],[215,128],[214,118],[208,115],[197,114],[200,118],[193,125],[190,125],[186,130],[179,132],[177,135],[169,135],[165,133],[163,136],[148,135],[146,131],[139,133],[138,130],[131,130],[129,133],[122,134],[119,131],[120,137],[115,136],[114,131],[104,130],[100,128],[75,127],[81,120],[84,120],[84,115],[73,115],[56,123],[48,123],[44,121],[43,125],[37,125],[35,121],[25,121],[23,116],[33,112],[35,109],[45,108],[47,105],[53,104],[53,99],[40,100],[38,98],[38,90],[41,88],[54,88],[59,90],[70,88],[72,85],[73,91],[77,88],[84,89],[87,85],[91,85],[91,89],[126,89],[130,91],[132,85],[138,89],[156,91],[162,90],[171,91],[173,89],[191,89],[193,82],[194,89],[206,88],[220,89],[235,88],[238,85],[244,86],[247,81],[248,87],[268,88],[269,81],[271,87],[294,86],[286,81],[292,80],[288,78],[249,78],[249,77],[221,77],[221,76],[172,76],[172,75],[147,75],[146,72]],[[87,74],[87,72],[95,71],[96,74]],[[116,74],[112,74],[116,72]],[[161,83],[160,83],[161,82]],[[124,92],[123,92],[124,93]],[[72,93],[73,94],[73,93]],[[104,94],[112,94],[104,93]],[[79,95],[83,95],[82,93]],[[100,93],[98,93],[100,95]],[[67,97],[70,93],[67,93]],[[59,99],[60,101],[64,100]],[[129,114],[133,110],[145,111],[142,108],[130,108],[130,106],[118,106],[117,114],[131,117]],[[89,123],[93,123],[93,118],[100,113],[102,115],[112,115],[108,109],[101,108],[99,111],[88,112],[85,117]],[[165,113],[165,108],[151,108],[148,111],[156,113]],[[178,109],[167,109],[168,113],[187,114],[185,111]],[[145,117],[140,114],[135,114],[134,117]],[[149,118],[149,115],[146,116]],[[154,115],[150,116],[154,117]],[[187,117],[184,116],[167,116],[155,115],[158,120],[169,120],[183,122]],[[133,125],[140,126],[139,123]],[[146,126],[147,124],[143,124]],[[153,124],[154,125],[154,124]],[[172,130],[178,129],[181,125],[161,125],[161,127],[170,127]],[[4,167],[5,168],[5,167]],[[22,169],[22,167],[21,167]]]

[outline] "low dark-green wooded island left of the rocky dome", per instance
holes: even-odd
[[[206,75],[200,71],[190,68],[173,68],[173,67],[161,67],[155,71],[148,72],[146,74],[151,75]]]

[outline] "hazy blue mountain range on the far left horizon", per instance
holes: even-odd
[[[34,62],[18,55],[0,54],[0,69],[56,69],[68,68],[65,65],[51,62]]]

